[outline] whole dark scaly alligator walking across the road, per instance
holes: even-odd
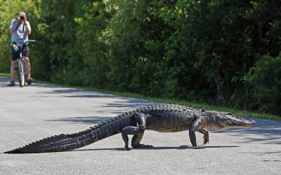
[[[234,116],[233,113],[211,111],[204,109],[192,109],[188,106],[174,104],[158,104],[144,106],[140,109],[123,113],[115,118],[90,127],[89,130],[74,134],[60,134],[32,142],[21,148],[16,148],[5,153],[49,153],[59,151],[71,151],[87,146],[106,137],[121,132],[125,146],[129,151],[129,137],[133,148],[151,148],[153,146],[141,144],[145,130],[157,132],[181,132],[188,130],[191,148],[200,149],[197,146],[195,132],[204,135],[203,145],[209,142],[207,130],[225,130],[229,127],[250,127],[254,120]]]

